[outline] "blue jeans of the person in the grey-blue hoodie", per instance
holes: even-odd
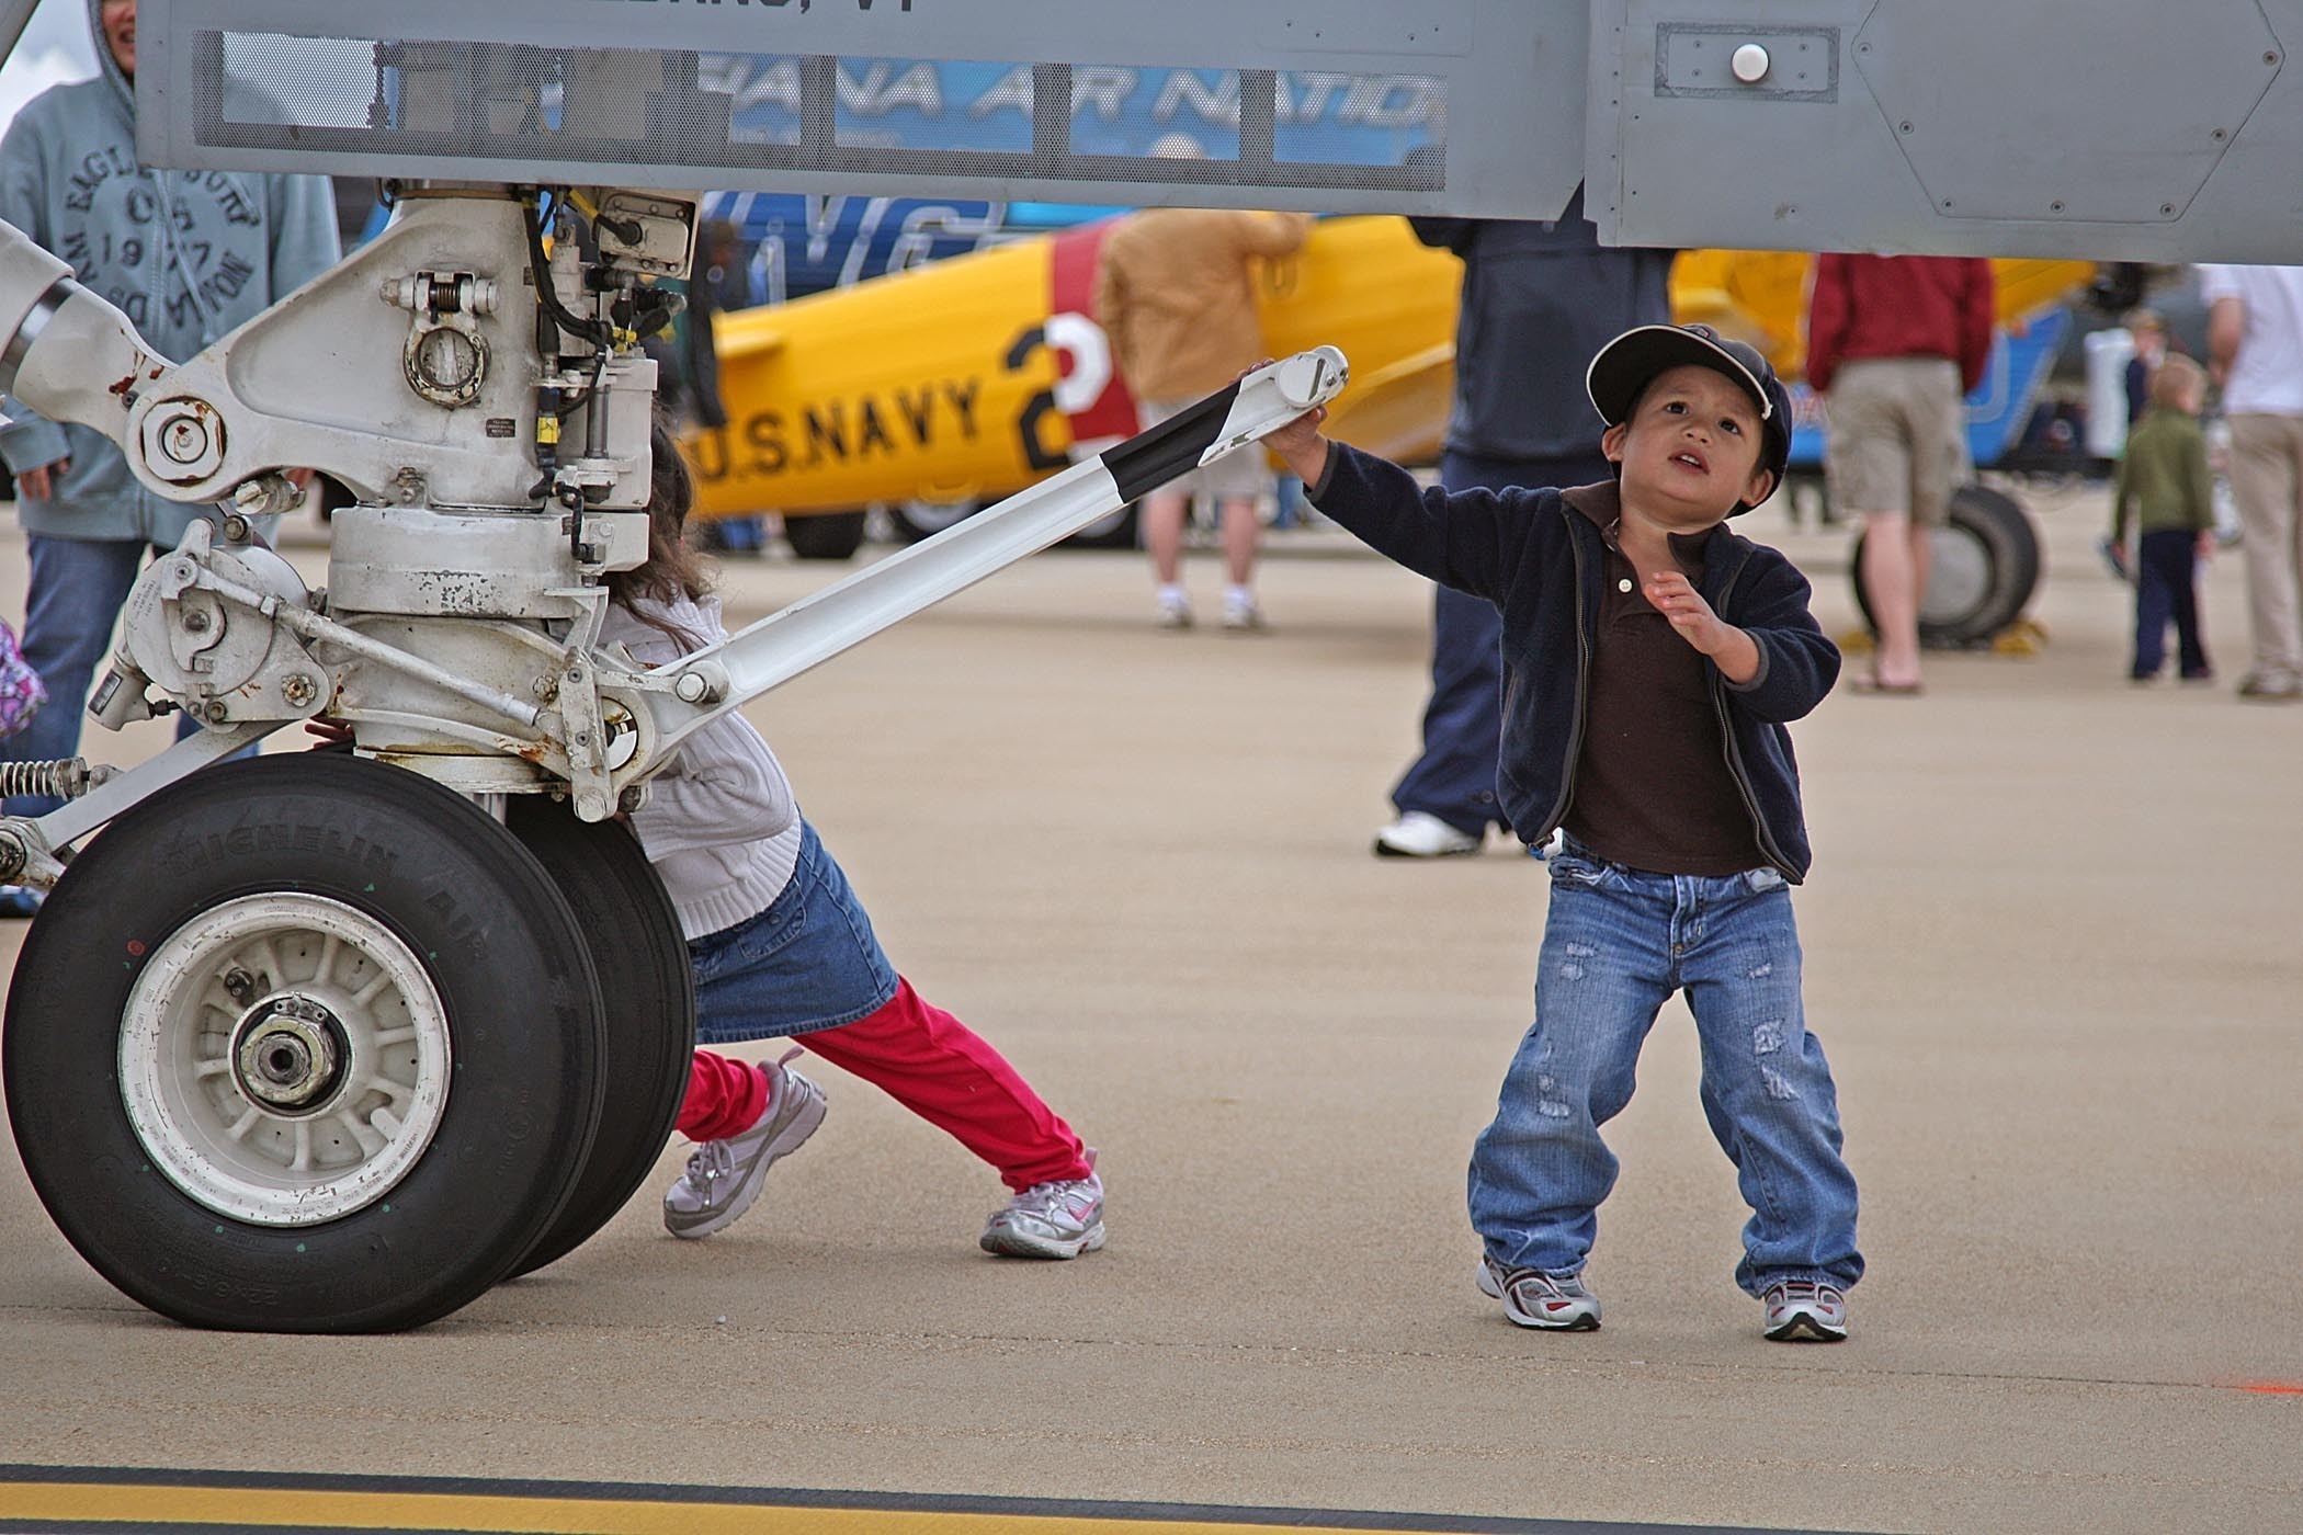
[[[23,732],[0,743],[0,762],[48,762],[81,755],[81,720],[88,690],[97,681],[120,621],[120,605],[143,571],[143,539],[55,539],[30,534],[32,585],[25,596],[23,658],[48,686],[48,704]],[[198,730],[177,718],[177,739]],[[64,801],[53,794],[16,794],[7,815],[48,815]]]

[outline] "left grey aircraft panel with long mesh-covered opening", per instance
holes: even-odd
[[[1584,0],[157,0],[189,168],[1552,216]]]

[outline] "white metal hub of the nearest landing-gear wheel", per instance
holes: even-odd
[[[449,1068],[424,964],[322,895],[203,911],[159,944],[120,1019],[120,1093],[152,1164],[260,1227],[389,1194],[440,1128]]]

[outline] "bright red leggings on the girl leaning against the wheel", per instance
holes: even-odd
[[[896,994],[871,1017],[801,1033],[792,1043],[949,1132],[997,1167],[1000,1181],[1016,1192],[1089,1171],[1071,1125],[967,1024],[921,1001],[910,980],[898,978]],[[755,1125],[762,1112],[767,1072],[751,1061],[696,1052],[679,1135],[691,1141],[725,1139]]]

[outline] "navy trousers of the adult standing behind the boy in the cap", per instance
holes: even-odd
[[[1578,458],[1472,458],[1446,453],[1439,483],[1449,490],[1511,486],[1587,486],[1607,479],[1598,453]],[[1504,743],[1504,614],[1483,596],[1432,589],[1432,695],[1423,707],[1423,755],[1391,789],[1400,815],[1421,810],[1465,835],[1504,824],[1495,771]]]

